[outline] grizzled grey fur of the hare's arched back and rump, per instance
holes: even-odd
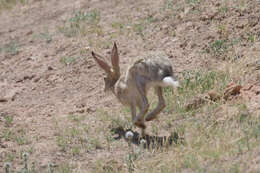
[[[162,52],[151,52],[139,57],[131,67],[131,73],[151,81],[161,81],[166,76],[172,76],[173,70],[168,56]]]

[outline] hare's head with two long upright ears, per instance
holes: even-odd
[[[116,43],[114,43],[114,47],[111,52],[111,64],[108,65],[102,58],[102,56],[94,53],[92,51],[92,56],[97,62],[97,64],[106,72],[106,77],[104,78],[105,81],[105,91],[108,91],[112,89],[117,82],[117,80],[120,77],[120,68],[119,68],[119,57],[118,57],[118,52],[117,52],[117,46]]]

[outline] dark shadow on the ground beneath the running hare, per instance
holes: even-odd
[[[160,148],[160,147],[169,146],[172,144],[183,144],[183,141],[184,141],[183,138],[179,137],[177,132],[174,132],[170,136],[150,136],[150,135],[141,136],[138,132],[133,131],[131,129],[124,130],[123,127],[117,127],[117,128],[111,129],[111,132],[118,135],[118,136],[114,137],[115,140],[120,140],[123,138],[124,140],[126,140],[128,142],[129,142],[129,140],[126,139],[125,134],[129,131],[132,132],[132,134],[133,134],[133,137],[130,140],[130,142],[135,145],[140,145],[142,139],[144,139],[145,143],[143,145],[145,148]]]

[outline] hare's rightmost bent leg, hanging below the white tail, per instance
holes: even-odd
[[[163,91],[162,91],[162,87],[155,87],[155,92],[158,96],[158,105],[157,107],[152,111],[150,112],[147,117],[145,118],[146,121],[151,121],[153,119],[156,118],[156,116],[163,110],[163,108],[165,107],[165,101],[164,101],[164,98],[163,98]]]

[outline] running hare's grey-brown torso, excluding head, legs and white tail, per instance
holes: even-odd
[[[121,76],[115,84],[114,94],[124,105],[129,105],[136,100],[136,104],[141,101],[138,85],[147,94],[152,87],[166,86],[163,78],[173,76],[171,62],[166,55],[159,52],[151,52],[147,56],[139,57],[128,67],[125,75]],[[140,104],[138,104],[140,105]]]

